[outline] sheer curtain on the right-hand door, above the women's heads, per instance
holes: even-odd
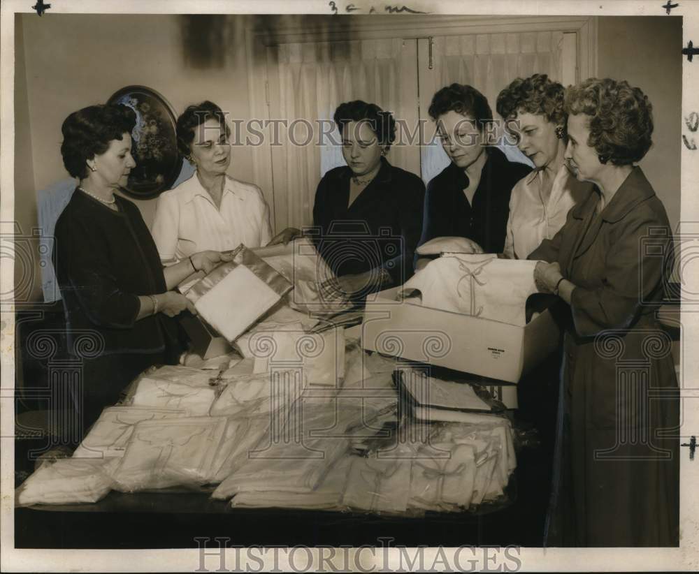
[[[519,32],[512,34],[469,34],[433,38],[434,91],[454,82],[470,84],[488,98],[493,114],[500,90],[514,78],[545,73],[561,81],[563,66],[563,32]],[[424,71],[421,71],[421,75]],[[421,86],[424,83],[421,80]],[[432,94],[434,93],[432,92]],[[420,90],[423,93],[423,89]],[[431,99],[431,95],[426,96]],[[426,110],[428,107],[424,106]],[[429,135],[433,133],[433,128]],[[501,134],[500,134],[501,135]],[[531,163],[516,147],[500,146],[514,161]],[[427,182],[449,164],[444,150],[433,143],[422,152],[422,177]]]

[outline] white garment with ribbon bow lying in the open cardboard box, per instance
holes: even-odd
[[[398,295],[409,297],[417,290],[424,307],[524,326],[527,297],[538,292],[536,263],[451,253],[428,263]]]

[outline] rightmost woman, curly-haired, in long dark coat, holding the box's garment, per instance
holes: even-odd
[[[529,255],[541,260],[540,290],[570,308],[551,545],[678,543],[677,378],[655,318],[672,235],[663,203],[634,165],[651,147],[651,109],[626,81],[591,78],[565,92],[565,161],[595,192]]]

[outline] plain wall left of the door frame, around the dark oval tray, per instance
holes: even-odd
[[[61,124],[69,113],[94,103],[129,84],[163,94],[179,113],[190,103],[209,99],[231,118],[247,118],[246,17],[179,15],[59,15],[41,18],[17,15],[23,38],[17,36],[17,75],[27,68],[27,108],[31,154],[22,161],[34,172],[34,189],[68,177],[62,163]],[[17,101],[22,86],[17,85]],[[26,128],[25,128],[26,129]],[[31,167],[33,161],[34,166]],[[252,154],[233,147],[231,175],[252,180]],[[17,181],[17,195],[31,204],[29,182]],[[140,201],[146,223],[155,200]],[[36,212],[34,205],[20,209]]]

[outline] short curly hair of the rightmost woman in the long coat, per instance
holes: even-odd
[[[640,161],[653,143],[653,106],[626,80],[589,78],[569,86],[565,112],[589,116],[587,145],[614,165]]]

